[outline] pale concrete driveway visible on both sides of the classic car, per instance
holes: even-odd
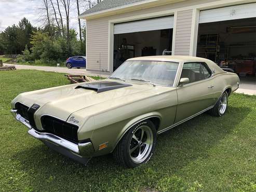
[[[18,70],[39,70],[39,71],[49,71],[57,73],[66,73],[72,75],[89,75],[89,76],[102,76],[108,77],[110,73],[99,73],[97,71],[87,71],[83,68],[66,68],[66,67],[54,67],[54,66],[33,66],[33,65],[17,65],[17,64],[5,64],[5,65],[15,65]],[[236,93],[244,93],[249,95],[256,95],[256,77],[252,78],[240,78],[241,84],[240,88],[236,90]]]

